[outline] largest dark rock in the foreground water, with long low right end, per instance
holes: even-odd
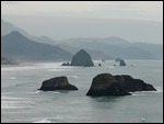
[[[152,84],[130,76],[101,74],[93,78],[86,95],[129,95],[132,91],[156,91],[156,89]]]

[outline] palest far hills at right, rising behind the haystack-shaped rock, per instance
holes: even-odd
[[[77,48],[99,50],[104,55],[120,57],[125,59],[162,59],[163,46],[161,44],[130,43],[120,37],[106,38],[70,38],[60,44]]]

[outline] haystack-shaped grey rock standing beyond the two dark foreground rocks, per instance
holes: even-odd
[[[70,66],[94,66],[89,53],[81,49],[73,57]]]

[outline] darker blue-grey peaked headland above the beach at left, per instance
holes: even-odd
[[[1,37],[1,54],[16,61],[69,60],[72,54],[57,46],[37,43],[13,31]]]

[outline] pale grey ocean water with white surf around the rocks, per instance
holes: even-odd
[[[114,60],[95,60],[95,67],[61,66],[62,63],[1,65],[1,123],[162,123],[163,60],[126,63],[126,67],[114,67]],[[104,72],[130,75],[157,91],[86,97],[92,79]],[[79,90],[37,90],[44,80],[58,76],[68,77]]]

